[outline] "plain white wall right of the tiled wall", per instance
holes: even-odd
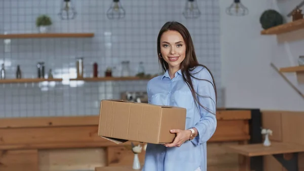
[[[279,1],[279,12],[286,14],[300,2],[285,1]],[[275,36],[260,35],[259,17],[266,9],[276,9],[277,1],[243,0],[249,9],[249,15],[244,17],[231,17],[224,13],[232,2],[220,0],[225,107],[304,111],[304,99],[270,66],[271,62],[277,67],[297,64],[298,55],[304,54],[304,41],[278,45]],[[288,3],[289,7],[286,6]],[[286,76],[304,92],[304,86],[297,84],[294,74]]]

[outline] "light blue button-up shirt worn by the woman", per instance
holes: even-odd
[[[193,76],[211,81],[209,72],[202,66],[196,67]],[[200,103],[216,113],[216,97],[213,85],[207,81],[192,78]],[[183,81],[181,71],[173,79],[168,71],[163,76],[151,79],[147,84],[148,103],[176,106],[186,109],[185,129],[197,128],[199,135],[192,141],[186,141],[180,147],[165,147],[148,144],[143,171],[194,171],[201,167],[207,170],[206,142],[216,129],[216,117],[207,110],[195,105],[190,88]],[[174,120],[174,118],[172,118]]]

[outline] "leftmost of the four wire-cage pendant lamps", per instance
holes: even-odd
[[[71,3],[71,0],[63,0],[60,13],[58,15],[62,20],[71,20],[76,17],[77,12]]]

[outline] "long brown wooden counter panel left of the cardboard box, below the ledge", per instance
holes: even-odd
[[[100,142],[106,143],[97,135],[97,126],[78,127],[41,127],[0,129],[0,145],[68,142]],[[111,142],[110,142],[111,143]],[[114,144],[114,143],[112,143]],[[0,146],[1,147],[1,146]]]

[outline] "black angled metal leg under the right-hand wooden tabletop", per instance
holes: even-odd
[[[298,171],[298,153],[293,153],[290,160],[284,159],[284,154],[273,154],[273,156],[288,170]]]

